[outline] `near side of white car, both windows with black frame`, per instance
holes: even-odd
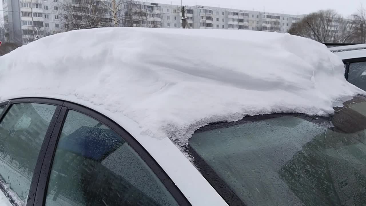
[[[1,109],[1,157],[10,159],[1,162],[10,168],[0,171],[1,189],[8,203],[190,205],[147,151],[103,115],[35,98]]]

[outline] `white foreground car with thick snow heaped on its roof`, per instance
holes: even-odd
[[[75,30],[0,57],[0,201],[362,205],[365,92],[290,34]]]

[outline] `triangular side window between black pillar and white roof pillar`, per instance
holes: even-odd
[[[175,206],[167,188],[117,133],[69,110],[52,164],[46,206]]]

